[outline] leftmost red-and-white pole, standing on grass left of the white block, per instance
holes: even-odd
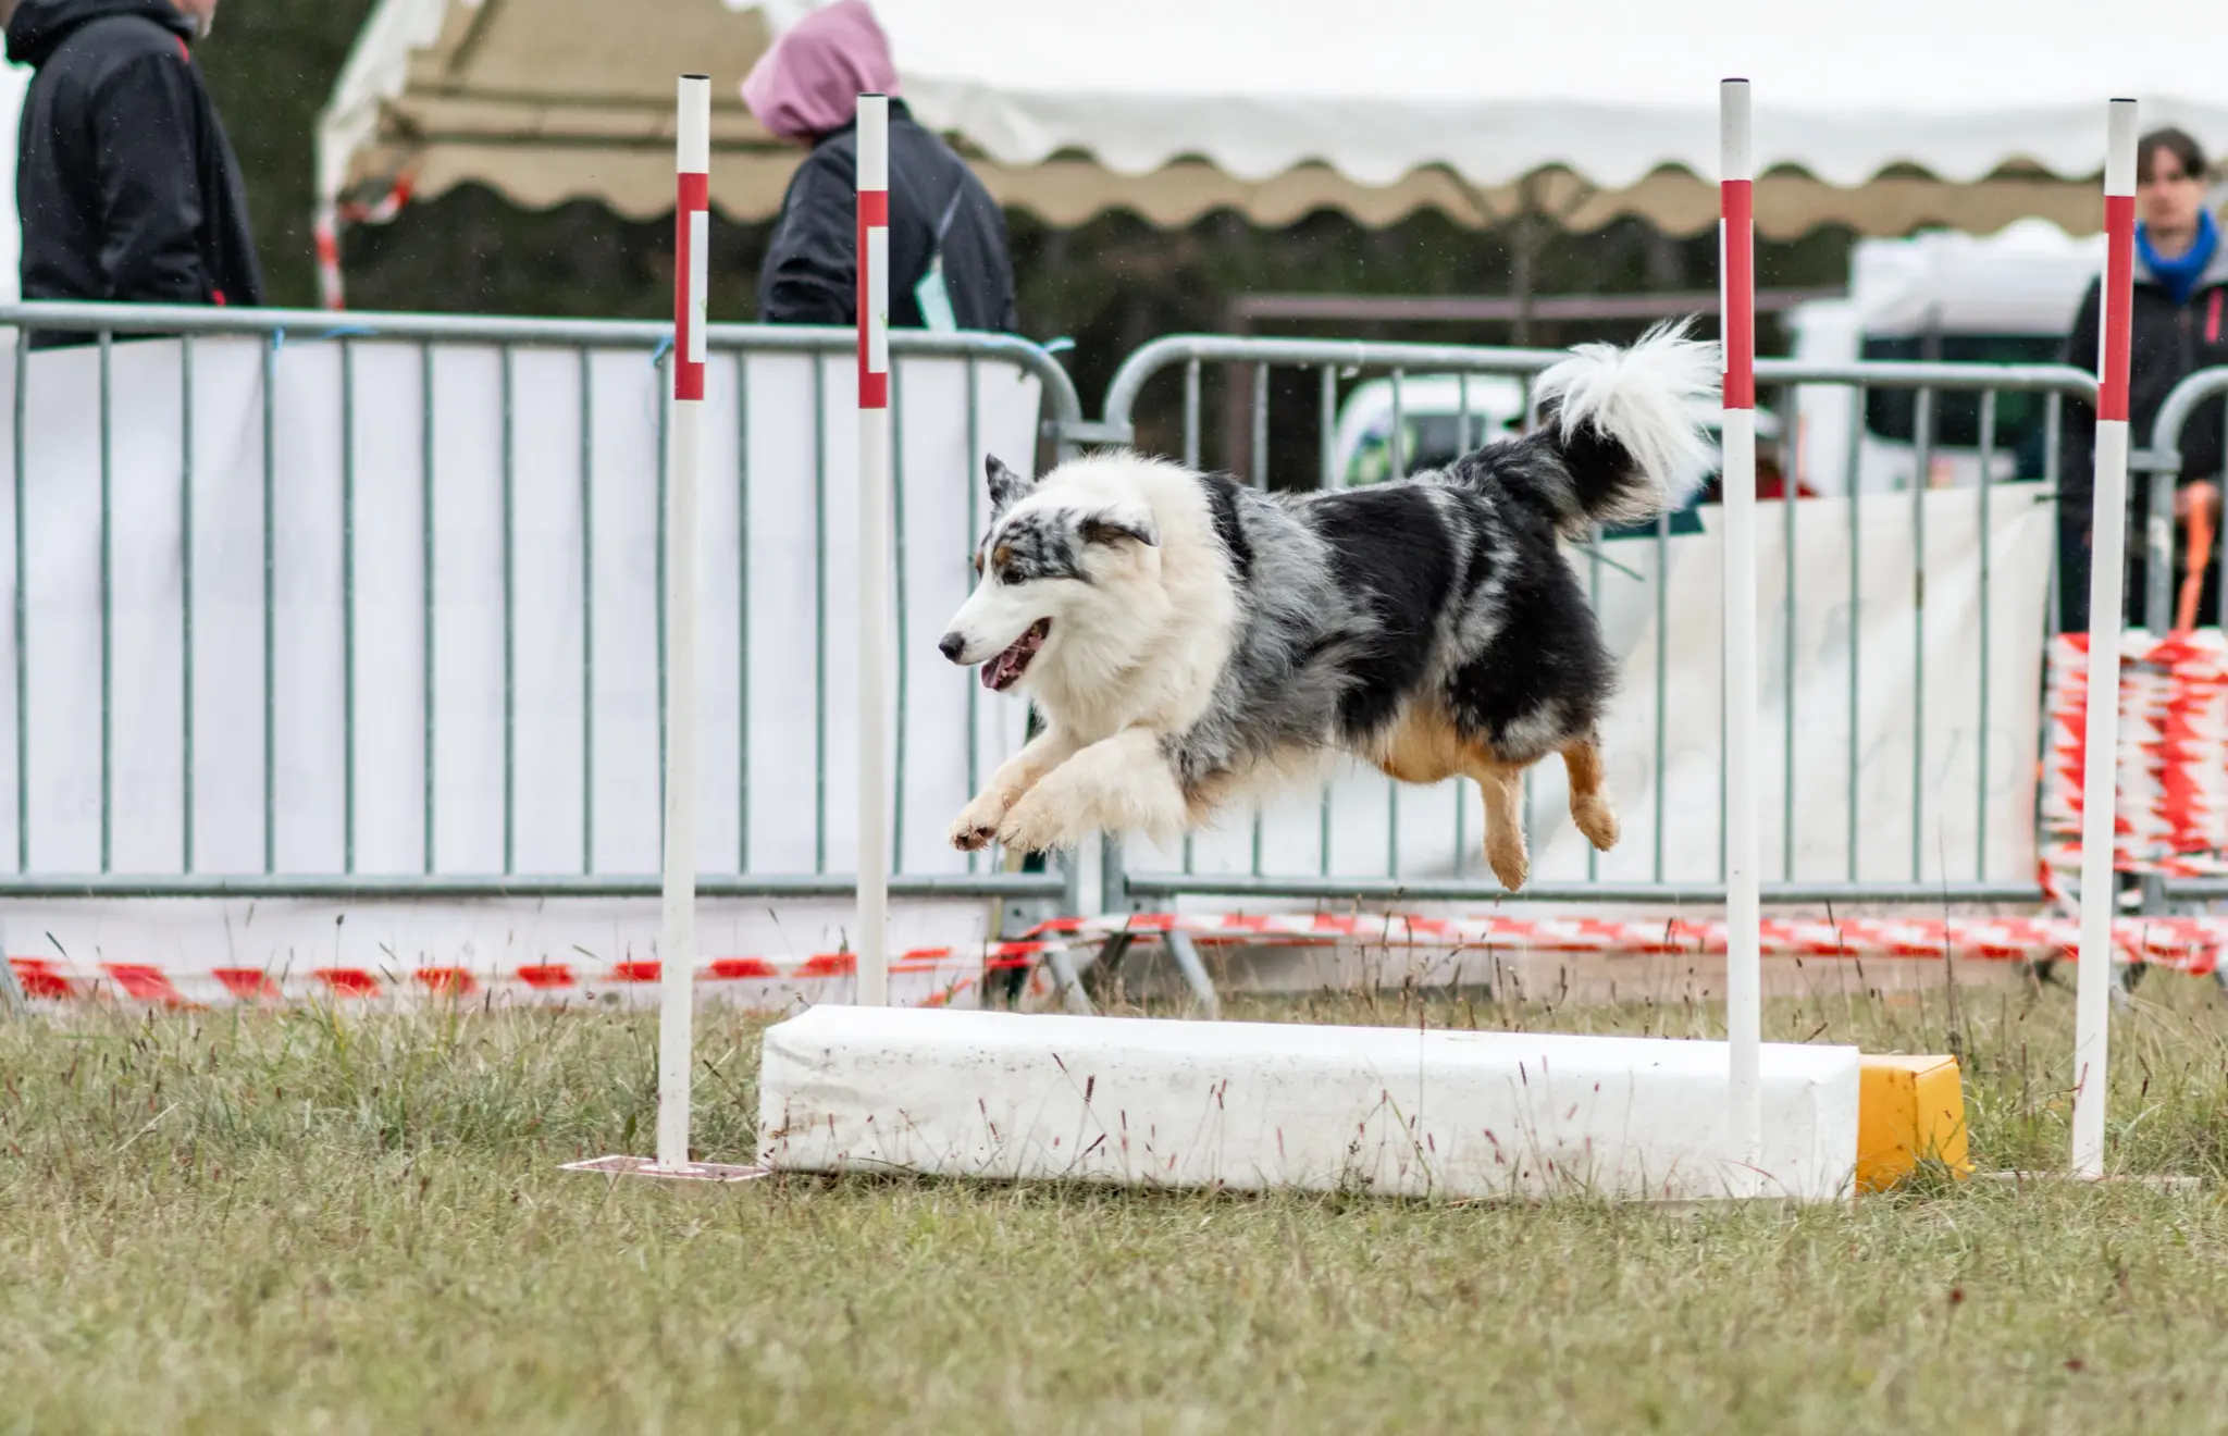
[[[657,946],[657,1167],[688,1169],[688,1069],[695,1040],[695,563],[704,439],[704,307],[711,278],[711,78],[680,80],[673,214],[673,423],[666,483],[666,844]]]

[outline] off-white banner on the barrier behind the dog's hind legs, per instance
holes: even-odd
[[[1758,505],[1765,712],[1753,761],[1760,764],[1765,804],[1765,879],[2027,882],[2034,877],[2043,603],[2054,539],[2050,496],[2036,483],[1996,485],[1987,492],[1983,530],[1978,490],[1927,492],[1923,565],[1912,494],[1869,494],[1856,503],[1854,528],[1847,499],[1805,499],[1796,505],[1791,646],[1785,510],[1780,503]],[[1724,586],[1718,519],[1720,510],[1704,508],[1698,532],[1673,534],[1664,543],[1671,586],[1662,621],[1653,583],[1658,545],[1651,537],[1604,541],[1600,565],[1582,552],[1573,554],[1593,586],[1604,637],[1622,659],[1622,688],[1602,735],[1622,842],[1589,862],[1591,848],[1571,826],[1562,766],[1551,759],[1531,775],[1535,882],[1720,882]],[[1985,626],[1983,532],[1990,570]],[[1921,599],[1923,646],[1916,641]],[[1854,871],[1851,621],[1858,739]],[[1923,663],[1914,661],[1916,652],[1923,652]],[[1328,815],[1319,793],[1297,793],[1270,806],[1261,824],[1261,871],[1491,882],[1482,822],[1475,784],[1395,790],[1375,773],[1348,770],[1332,784]],[[1181,853],[1156,850],[1130,857],[1134,871],[1170,871],[1181,862]],[[1192,862],[1201,873],[1250,873],[1250,817],[1237,815],[1219,830],[1196,835]]]

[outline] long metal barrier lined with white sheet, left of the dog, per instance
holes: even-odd
[[[655,788],[662,770],[651,766],[646,753],[653,670],[657,750],[666,724],[664,405],[655,399],[664,390],[655,365],[671,343],[671,325],[405,314],[336,318],[323,312],[45,303],[0,307],[0,325],[13,327],[13,485],[11,505],[0,514],[9,525],[9,548],[0,557],[11,561],[4,590],[11,672],[0,675],[11,688],[9,710],[0,710],[0,726],[11,728],[11,753],[0,757],[0,773],[13,768],[13,871],[0,873],[0,895],[356,899],[657,893],[657,804],[644,788]],[[33,350],[33,332],[76,336],[78,347]],[[172,341],[174,376],[163,367],[172,363],[163,354]],[[731,468],[724,474],[717,470],[715,447],[706,456],[704,481],[706,494],[722,488],[729,494],[724,503],[731,532],[717,541],[731,545],[733,570],[722,574],[713,563],[706,588],[724,581],[729,588],[722,601],[737,608],[735,730],[729,739],[735,790],[731,801],[722,797],[724,810],[735,815],[735,862],[729,873],[700,879],[700,891],[711,897],[838,897],[853,888],[849,875],[829,871],[829,813],[842,810],[829,795],[831,753],[840,755],[844,748],[829,739],[831,668],[838,677],[842,668],[827,657],[840,628],[829,623],[831,588],[838,599],[849,592],[842,552],[831,550],[831,503],[851,501],[849,490],[831,496],[827,474],[831,459],[840,456],[838,445],[842,454],[849,452],[853,432],[840,421],[831,423],[831,405],[849,405],[847,394],[831,390],[847,383],[853,345],[849,330],[709,330],[713,363],[724,358],[735,378],[733,430],[724,441],[733,445]],[[305,347],[319,350],[319,358],[301,367]],[[1065,370],[1036,345],[1003,336],[896,332],[891,350],[898,361],[898,592],[907,592],[907,565],[913,565],[916,590],[925,565],[947,565],[954,592],[962,594],[971,581],[967,550],[978,521],[985,452],[980,427],[996,419],[1009,434],[1007,443],[1032,447],[1040,436],[1065,443],[1089,430],[1081,425],[1081,405]],[[0,347],[0,358],[4,354]],[[769,356],[815,363],[798,365],[798,374],[809,367],[809,381],[791,374],[780,394],[758,396],[753,385],[764,374],[753,365],[775,363]],[[954,365],[916,361],[958,361],[962,378],[954,376]],[[120,372],[127,372],[125,378],[118,378]],[[160,392],[149,387],[152,374],[163,376],[156,385]],[[1007,385],[1016,399],[998,399],[989,394],[991,376],[1034,378],[1036,394],[1025,394],[1016,381]],[[940,494],[922,499],[920,490],[913,503],[905,499],[907,381],[934,381],[951,390],[951,403],[938,403],[938,412],[956,412],[960,387],[965,392],[965,543],[954,541],[960,532],[956,514],[949,521],[951,534],[938,528],[942,537],[907,543],[907,514],[918,521],[920,514],[936,517],[938,508],[958,508],[954,501],[938,503]],[[613,387],[626,392],[617,410],[608,394]],[[51,416],[71,403],[82,405],[89,390],[98,412],[98,443],[80,425],[49,445],[47,439],[56,439],[53,430],[62,427]],[[365,403],[363,394],[372,392],[399,396],[390,405],[399,414]],[[499,412],[490,414],[486,410],[495,405],[486,399],[495,394]],[[577,412],[568,414],[570,405]],[[809,419],[795,412],[802,405],[811,407]],[[169,427],[172,412],[176,430]],[[325,419],[334,414],[336,432],[325,434],[325,427],[334,427]],[[606,423],[613,414],[624,423]],[[766,414],[775,414],[778,423],[769,423]],[[604,432],[599,423],[624,432]],[[766,494],[753,496],[753,454],[773,427],[791,434],[784,443],[802,445],[802,434],[811,434],[809,617],[751,612],[753,563],[802,563],[791,552],[802,548],[802,517],[791,534],[798,541],[751,530],[753,514],[766,512]],[[956,434],[947,439],[956,450]],[[334,443],[339,454],[316,447]],[[477,445],[470,463],[443,465],[446,445],[452,443]],[[283,472],[290,463],[285,454],[294,450],[316,450],[319,463],[336,474],[336,492],[328,492],[323,479],[312,483],[305,474]],[[555,459],[561,452],[577,456],[570,468]],[[82,472],[65,472],[71,465]],[[443,468],[450,472],[441,472]],[[655,496],[646,476],[651,468]],[[617,483],[606,481],[606,474],[617,470],[631,476],[626,494],[606,492]],[[156,472],[176,492],[152,492],[149,483],[156,479],[147,474]],[[775,479],[786,481],[784,474]],[[949,476],[938,474],[938,481],[949,483]],[[613,528],[608,519],[622,501],[631,508],[619,514],[624,523]],[[782,503],[791,505],[782,512],[804,512],[802,499]],[[209,537],[212,510],[221,505],[229,505],[227,514],[236,525],[223,543]],[[303,519],[303,505],[323,505],[316,523]],[[463,512],[459,505],[477,508]],[[577,523],[550,528],[546,517],[557,510],[568,523]],[[715,512],[720,510],[706,510],[706,528]],[[840,519],[842,510],[833,514]],[[321,534],[314,554],[287,552],[299,534],[312,530]],[[499,530],[499,543],[492,530]],[[550,537],[557,530],[564,530],[564,541]],[[250,532],[254,539],[247,539]],[[475,534],[486,534],[486,541],[477,557],[466,554],[468,561],[459,565],[457,554],[470,548],[468,539],[477,541]],[[227,550],[225,543],[234,548]],[[550,552],[566,545],[577,545],[577,552]],[[328,572],[328,563],[336,563],[339,574]],[[541,581],[559,563],[568,574],[577,570],[579,592],[573,612],[550,614],[528,592],[528,579]],[[174,577],[169,565],[176,565]],[[163,570],[156,574],[160,581],[147,570]],[[71,601],[91,617],[80,614],[80,621],[62,612],[67,603],[53,597],[60,588],[69,588],[76,594]],[[127,594],[125,601],[118,599],[120,592]],[[802,583],[795,592],[802,594]],[[477,626],[461,648],[450,641],[450,623],[457,619],[448,612],[452,601],[470,608],[468,617]],[[334,606],[339,612],[332,612]],[[795,606],[802,606],[802,597]],[[290,608],[316,610],[323,628],[296,630],[299,614],[287,612]],[[954,790],[965,781],[971,793],[976,775],[987,773],[983,764],[996,764],[998,757],[983,753],[985,721],[1003,719],[978,712],[976,686],[969,683],[965,719],[958,717],[956,692],[954,712],[942,719],[956,737],[940,741],[936,750],[922,750],[920,726],[909,721],[918,712],[907,715],[902,666],[909,661],[911,639],[905,608],[900,601],[900,737],[893,768],[900,804],[916,781],[947,781]],[[492,637],[497,614],[499,641]],[[942,614],[934,614],[929,621],[940,619]],[[528,621],[535,623],[535,635],[568,635],[561,650],[566,661],[577,652],[577,677],[528,683],[524,666],[532,655],[521,648],[519,637]],[[795,635],[807,623],[813,648],[809,683],[802,672],[778,675],[778,690],[769,692],[764,681],[753,690],[753,635],[764,646],[769,635]],[[385,643],[379,652],[372,652],[374,630],[385,635],[377,639]],[[74,657],[80,641],[87,657]],[[421,670],[414,675],[408,672],[408,661],[397,659],[412,643],[423,648],[417,655]],[[91,677],[94,648],[98,679]],[[651,648],[655,663],[646,655]],[[147,663],[160,675],[136,670],[138,650],[158,655]],[[85,663],[82,675],[69,668],[74,661]],[[492,675],[497,666],[499,679]],[[555,670],[566,663],[541,666]],[[62,675],[60,688],[76,686],[82,692],[45,692],[42,675]],[[383,681],[399,690],[374,692]],[[303,683],[336,690],[339,697],[321,699],[328,704],[323,717],[294,712],[292,688]],[[452,704],[457,683],[483,695],[488,715],[499,683],[499,739],[492,732],[495,719],[488,717],[466,735],[470,744],[459,748],[461,739],[443,726],[461,721],[455,719]],[[408,692],[410,686],[417,692]],[[631,686],[628,701],[639,708],[642,721],[628,717],[626,735],[599,735],[599,695],[615,686]],[[760,753],[753,759],[753,726],[764,721],[762,715],[780,717],[807,704],[813,715],[811,753]],[[577,706],[577,715],[564,719],[564,741],[553,739],[526,753],[528,728],[544,717],[544,708],[568,706]],[[840,695],[836,706],[833,717],[842,719]],[[160,712],[149,717],[156,710]],[[176,726],[163,732],[172,721]],[[91,732],[94,724],[98,735]],[[624,773],[602,773],[599,755],[610,764],[608,755],[619,737],[633,744]],[[223,764],[218,748],[229,755]],[[559,748],[561,761],[550,757]],[[457,750],[463,750],[461,759],[455,757]],[[254,757],[261,759],[258,773]],[[417,773],[408,770],[412,761]],[[71,764],[76,768],[69,781],[53,777],[56,766]],[[800,773],[807,766],[809,797]],[[294,808],[283,808],[292,801],[285,793],[292,793],[290,775],[296,768],[316,770],[314,784],[336,784],[336,795],[319,788],[325,793],[325,808],[305,808],[330,810],[330,822],[299,819],[292,817]],[[849,781],[840,777],[840,759],[833,773]],[[802,857],[802,837],[789,859],[753,853],[753,775],[786,784],[784,793],[793,795],[798,808],[793,824],[811,824],[809,857]],[[417,793],[401,793],[410,786]],[[550,797],[557,788],[564,790],[561,801]],[[33,790],[51,804],[33,808]],[[773,795],[758,801],[758,830],[764,830],[764,806],[791,799]],[[936,793],[920,806],[940,808],[942,801]],[[644,830],[642,815],[648,815],[648,853],[642,842],[628,839],[633,859],[610,857],[610,850],[628,844],[608,839],[610,822],[617,822],[606,815],[608,806],[624,806],[633,815],[628,822],[637,837]],[[49,813],[67,813],[71,824],[82,824],[82,842],[49,842],[51,833],[42,835],[40,826],[60,826]],[[149,830],[147,813],[163,815],[152,824],[163,833]],[[227,830],[238,839],[223,859],[212,857],[212,813],[225,815]],[[920,813],[916,822],[934,819],[940,837],[947,817],[936,810]],[[176,828],[169,828],[172,822]],[[789,817],[780,815],[780,822],[786,824]],[[412,824],[421,828],[417,835],[408,833]],[[459,824],[470,837],[459,844],[463,859],[437,850],[439,833]],[[310,826],[316,830],[307,830]],[[365,853],[374,826],[385,844],[381,862],[370,862]],[[557,844],[553,833],[537,828],[566,833]],[[488,862],[497,846],[499,859]],[[546,862],[559,848],[577,853],[577,859]],[[147,853],[167,853],[169,859],[125,862]],[[283,862],[281,853],[310,857]],[[410,862],[399,862],[397,853],[408,853]],[[521,871],[521,853],[541,853],[544,862]],[[1072,871],[991,871],[985,859],[962,859],[940,842],[931,853],[918,837],[909,848],[902,819],[893,862],[891,891],[900,897],[1074,904]],[[0,857],[0,864],[7,859]]]

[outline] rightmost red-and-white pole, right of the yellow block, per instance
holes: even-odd
[[[2134,100],[2105,111],[2103,323],[2097,354],[2097,508],[2090,519],[2088,732],[2081,755],[2081,962],[2074,982],[2074,1151],[2103,1176],[2105,1058],[2112,1029],[2112,882],[2119,813],[2119,648],[2128,559],[2128,341],[2134,305]],[[2099,697],[2101,695],[2101,697]]]

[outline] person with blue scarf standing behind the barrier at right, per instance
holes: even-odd
[[[2206,209],[2206,154],[2179,129],[2154,129],[2141,138],[2137,158],[2134,312],[2130,334],[2128,427],[2137,450],[2152,441],[2152,425],[2166,394],[2197,370],[2228,363],[2228,245]],[[2081,298],[2074,330],[2065,338],[2065,363],[2097,372],[2101,354],[2101,296],[2097,278]],[[2059,476],[2059,626],[2088,632],[2088,586],[2092,510],[2097,481],[2097,414],[2088,405],[2065,407],[2063,470]],[[2199,405],[2181,434],[2181,483],[2175,517],[2183,532],[2215,532],[2219,517],[2221,405]],[[2143,543],[2143,476],[2128,476],[2128,588],[2126,621],[2141,623],[2148,561]],[[2186,543],[2177,543],[2177,568]],[[2219,612],[2219,565],[2210,552],[2195,563],[2203,590],[2197,612]],[[2188,574],[2181,572],[2179,579]],[[2175,608],[2181,583],[2175,586]]]

